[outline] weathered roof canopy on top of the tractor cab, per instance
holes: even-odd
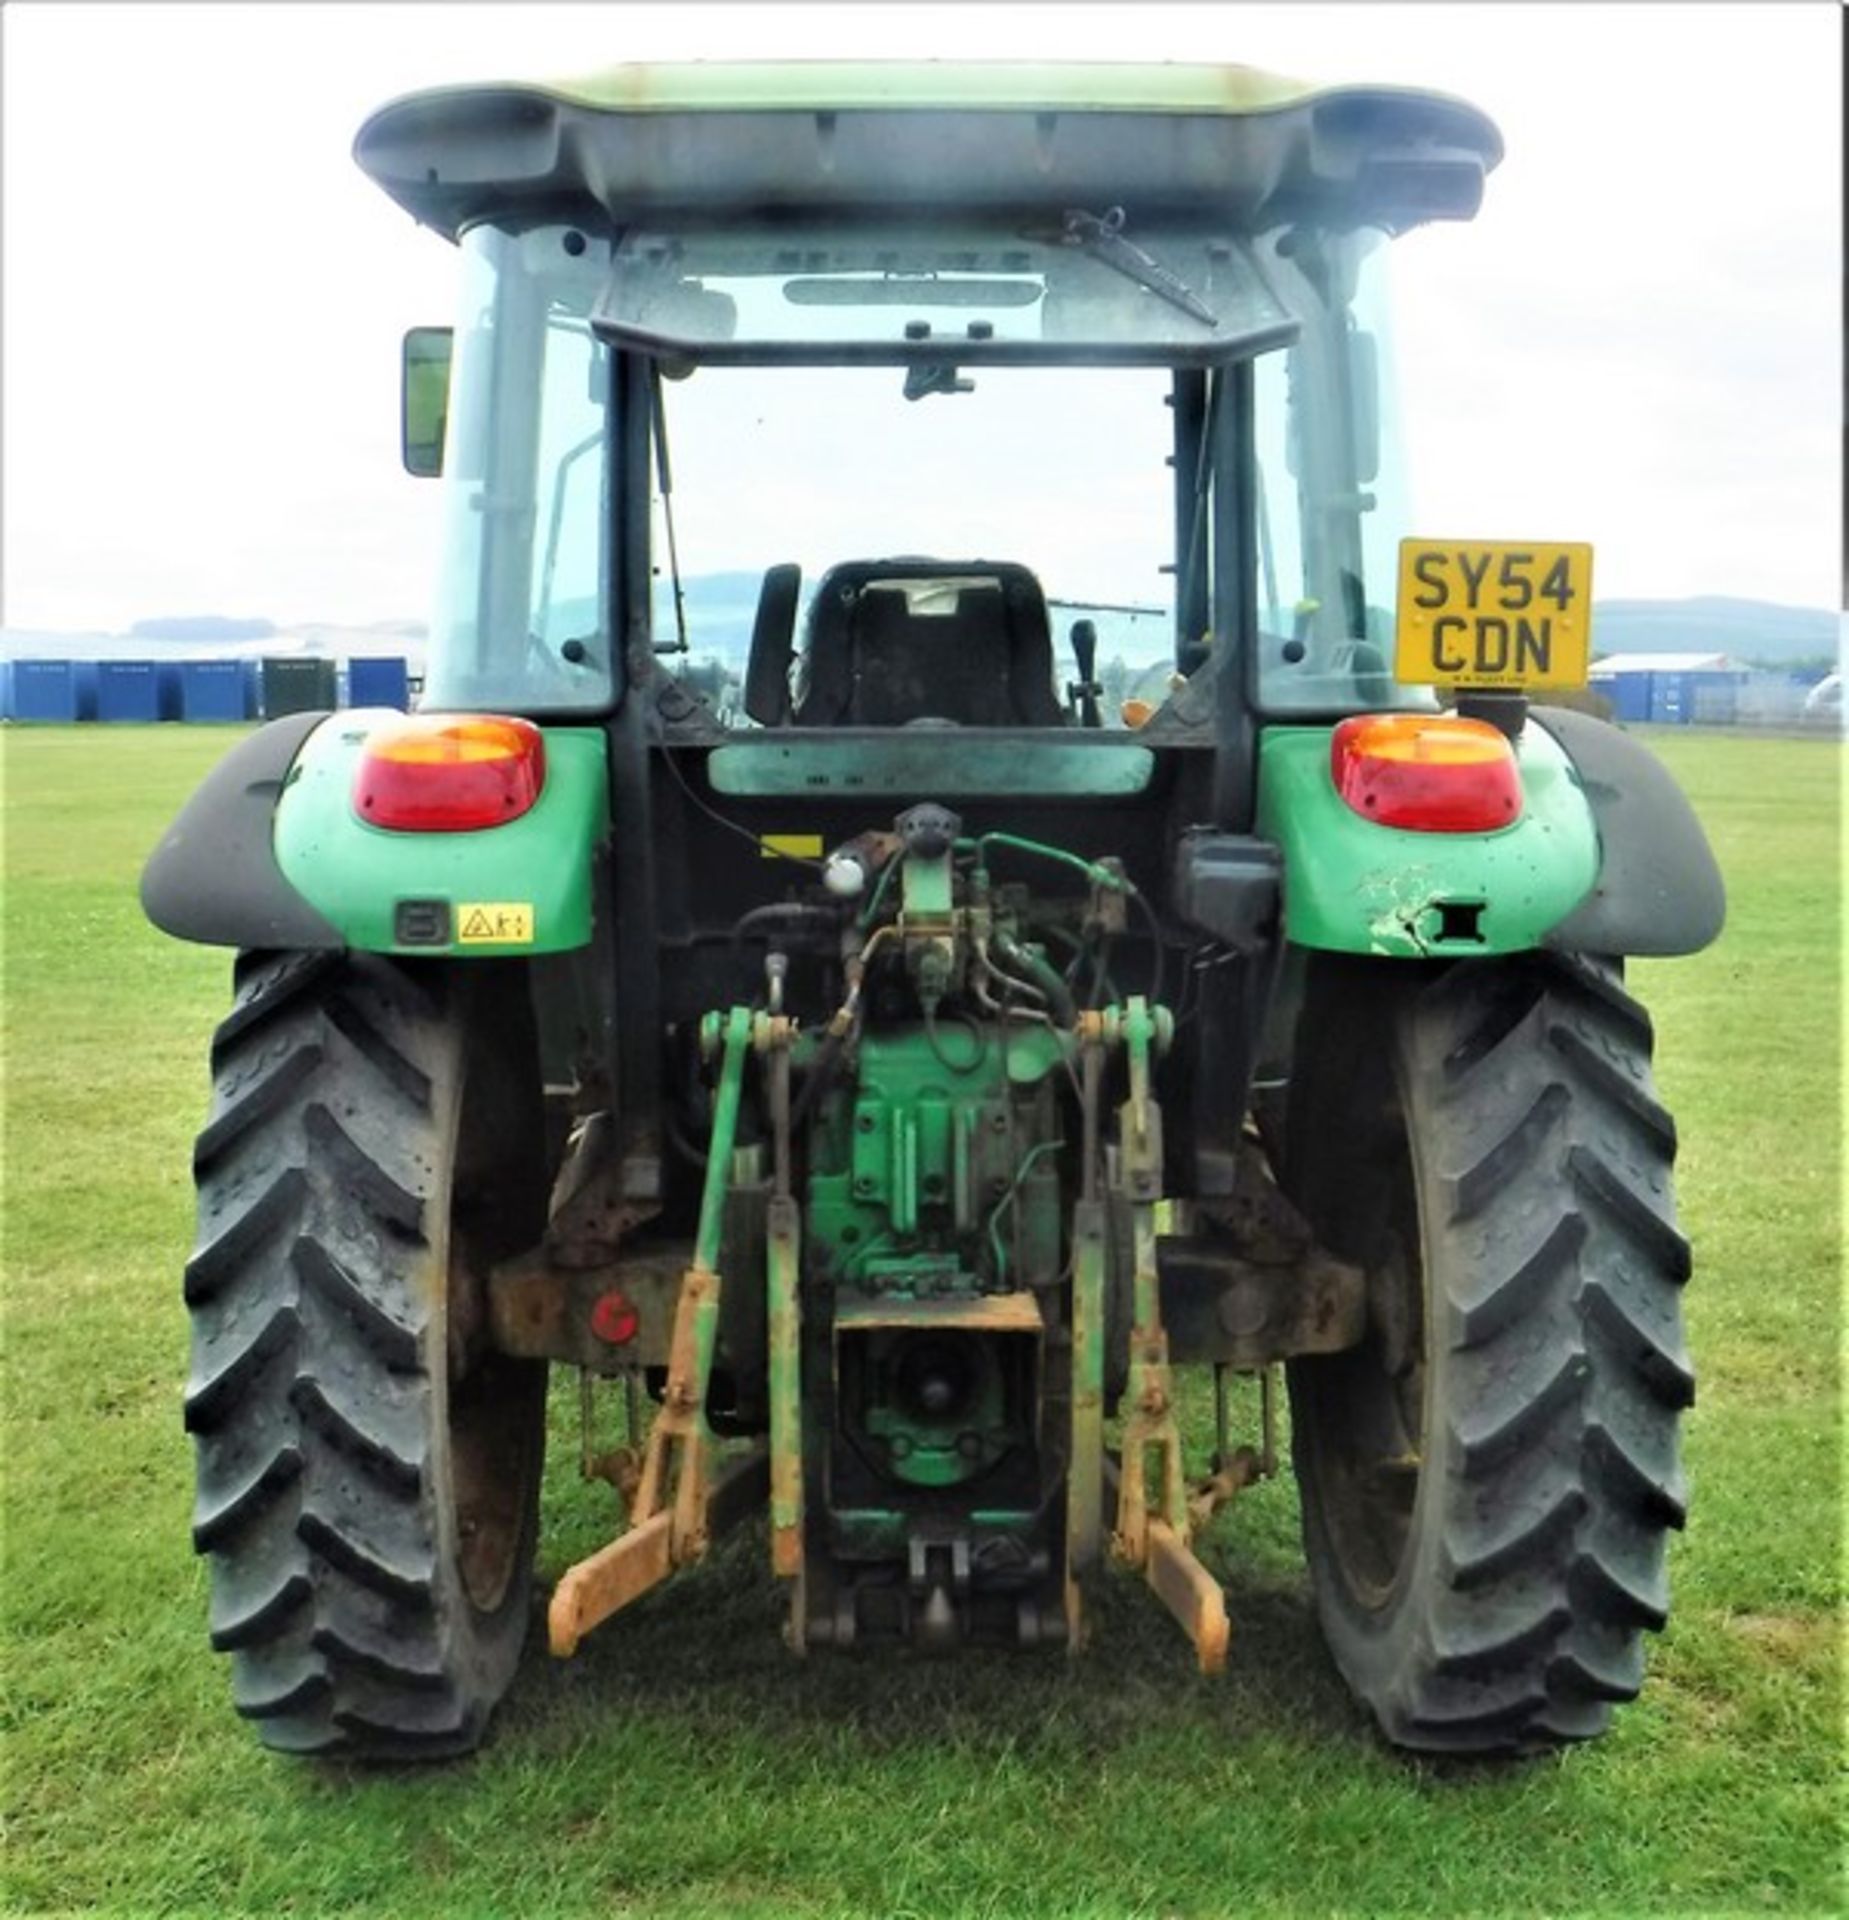
[[[1260,232],[1469,219],[1501,136],[1404,86],[1252,67],[628,65],[380,108],[361,167],[447,238],[482,219],[1125,205]]]

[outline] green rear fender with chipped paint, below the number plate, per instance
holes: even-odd
[[[1463,958],[1540,947],[1592,893],[1599,833],[1559,741],[1523,728],[1523,814],[1494,833],[1413,833],[1363,820],[1329,774],[1327,726],[1260,737],[1258,831],[1285,854],[1298,947]]]

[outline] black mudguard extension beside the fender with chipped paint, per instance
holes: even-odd
[[[1695,810],[1640,741],[1592,714],[1536,707],[1565,747],[1599,829],[1599,877],[1544,947],[1588,954],[1692,954],[1726,920],[1726,889]]]

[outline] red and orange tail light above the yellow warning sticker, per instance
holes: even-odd
[[[399,833],[467,833],[518,820],[545,785],[545,735],[530,720],[411,714],[367,739],[353,812]]]

